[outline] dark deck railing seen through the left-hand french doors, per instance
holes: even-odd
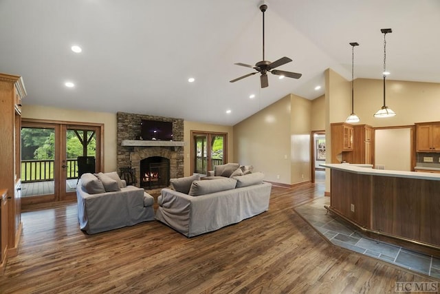
[[[78,161],[67,159],[67,179],[78,178]],[[21,160],[21,182],[54,180],[54,160]]]

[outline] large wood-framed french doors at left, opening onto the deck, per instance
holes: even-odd
[[[78,156],[91,156],[102,167],[99,124],[22,120],[21,204],[74,200]]]

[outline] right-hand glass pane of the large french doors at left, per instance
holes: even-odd
[[[78,176],[80,176],[82,167],[78,167],[78,156],[89,156],[85,160],[86,167],[91,167],[89,162],[95,163],[96,160],[96,133],[87,129],[67,129],[66,131],[66,192],[72,192],[76,189]],[[93,159],[93,160],[92,160]],[[95,167],[95,165],[93,165]],[[87,170],[87,172],[95,172]]]

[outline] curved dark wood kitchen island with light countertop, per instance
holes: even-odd
[[[440,174],[320,166],[331,169],[327,209],[362,231],[440,249]]]

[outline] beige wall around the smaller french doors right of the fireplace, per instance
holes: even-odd
[[[211,125],[206,123],[196,123],[192,121],[184,121],[184,175],[192,175],[191,171],[191,131],[201,132],[219,132],[228,133],[228,162],[234,162],[234,138],[233,128],[231,126],[224,125]]]

